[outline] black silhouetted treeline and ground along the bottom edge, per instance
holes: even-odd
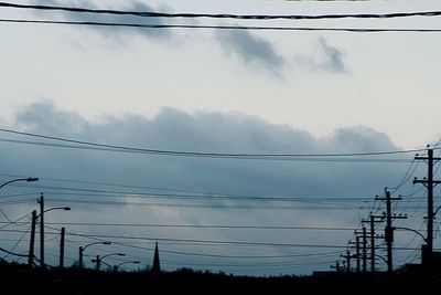
[[[0,264],[1,294],[421,294],[439,289],[426,275],[235,276],[182,268],[174,272],[97,272],[76,267],[29,270]]]

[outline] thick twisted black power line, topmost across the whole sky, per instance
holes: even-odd
[[[0,2],[0,7],[17,8],[17,9],[34,9],[34,10],[51,10],[51,11],[68,11],[77,13],[95,13],[95,14],[118,14],[133,15],[147,18],[212,18],[212,19],[240,19],[240,20],[321,20],[321,19],[392,19],[392,18],[409,18],[409,17],[438,17],[441,11],[417,11],[417,12],[394,12],[394,13],[361,13],[361,14],[226,14],[226,13],[165,13],[151,11],[122,11],[122,10],[104,10],[104,9],[86,9],[74,7],[58,6],[32,6]]]

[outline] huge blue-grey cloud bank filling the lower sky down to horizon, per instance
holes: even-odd
[[[398,149],[386,134],[363,126],[340,128],[329,137],[316,138],[305,130],[273,125],[262,118],[245,114],[216,112],[190,114],[174,108],[163,108],[153,118],[127,115],[120,118],[108,117],[100,123],[90,123],[78,114],[61,110],[51,103],[44,102],[22,108],[15,116],[15,123],[9,128],[100,144],[201,152],[326,154]],[[47,143],[41,138],[4,133],[0,134],[0,138]],[[73,223],[284,224],[356,228],[359,218],[358,208],[366,206],[363,200],[374,197],[385,186],[397,183],[407,168],[404,165],[375,162],[269,161],[154,156],[8,141],[2,141],[0,152],[8,155],[2,158],[0,181],[7,181],[13,176],[41,178],[36,183],[10,186],[6,187],[7,190],[3,188],[2,198],[7,197],[6,194],[31,193],[12,199],[28,201],[24,204],[2,206],[10,219],[13,220],[36,209],[35,197],[44,192],[47,208],[66,204],[73,208],[68,213],[55,211],[49,213],[45,217],[46,222]],[[139,194],[140,192],[142,196]],[[219,193],[222,198],[218,198]],[[203,197],[197,197],[200,194]],[[256,197],[270,199],[256,200],[254,199]],[[279,197],[293,200],[271,201],[271,198]],[[355,198],[355,201],[333,201],[342,197]],[[357,198],[361,200],[356,201]],[[4,204],[4,200],[10,199],[2,200]],[[121,206],[120,202],[126,204]],[[314,206],[319,207],[314,209]],[[303,209],[290,209],[292,207]],[[347,210],[340,210],[346,207]],[[10,225],[10,229],[15,229],[14,226],[19,225]],[[320,232],[320,234],[300,231],[295,234],[287,234],[287,231],[278,230],[262,232],[244,229],[94,228],[87,225],[68,225],[67,231],[152,239],[121,241],[114,238],[112,241],[125,242],[129,245],[116,244],[111,250],[103,247],[88,250],[90,255],[106,253],[106,251],[130,253],[137,259],[147,260],[149,264],[153,241],[161,238],[345,245],[353,234],[353,231]],[[56,239],[55,233],[53,229],[47,231],[51,239]],[[4,239],[17,238],[13,233],[10,234],[11,236],[4,236]],[[161,250],[229,256],[306,254],[324,251],[270,245],[250,250],[236,245],[215,246],[161,241]],[[77,257],[77,247],[87,242],[86,238],[71,235],[66,256],[74,262]],[[6,249],[13,246],[12,242],[4,243],[7,242],[3,242],[2,246]],[[23,251],[26,251],[26,245],[22,246]],[[142,246],[147,250],[133,249],[133,246]],[[47,252],[57,253],[57,244],[47,242]],[[51,255],[47,260],[51,260],[50,257]],[[170,252],[163,253],[162,259],[169,261],[169,264],[164,264],[168,270],[191,266],[192,263],[208,265],[254,263],[255,270],[248,274],[283,273],[279,268],[259,268],[261,260],[215,260]],[[324,259],[329,261],[329,257]],[[52,263],[56,263],[56,255],[53,260]],[[175,263],[170,263],[170,261]],[[308,274],[318,270],[320,267],[318,265],[323,261],[319,260],[319,264],[309,261],[302,265],[299,259],[287,257],[284,262],[298,265],[284,271]],[[240,267],[206,267],[243,274],[238,272]]]

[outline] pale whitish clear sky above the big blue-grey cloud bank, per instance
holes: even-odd
[[[58,3],[87,7],[90,2]],[[121,3],[94,1],[93,7],[130,10],[130,2]],[[440,9],[437,1],[149,1],[146,4],[160,11],[236,14]],[[2,18],[77,20],[83,17],[6,8],[0,13]],[[413,17],[257,24],[428,29],[435,28],[437,20],[437,17]],[[166,21],[184,22],[163,23]],[[195,22],[237,23],[206,19]],[[123,114],[153,117],[166,106],[190,113],[240,112],[319,137],[341,127],[363,125],[388,134],[402,148],[423,147],[441,135],[435,124],[441,102],[438,33],[196,29],[140,32],[11,23],[3,23],[0,30],[2,67],[8,70],[1,74],[1,115],[9,120],[22,106],[51,101],[90,120]],[[235,42],[235,38],[243,42]]]

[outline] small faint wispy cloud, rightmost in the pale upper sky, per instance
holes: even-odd
[[[330,45],[324,38],[320,38],[318,44],[318,52],[314,55],[297,54],[293,62],[310,71],[347,72],[342,50]]]

